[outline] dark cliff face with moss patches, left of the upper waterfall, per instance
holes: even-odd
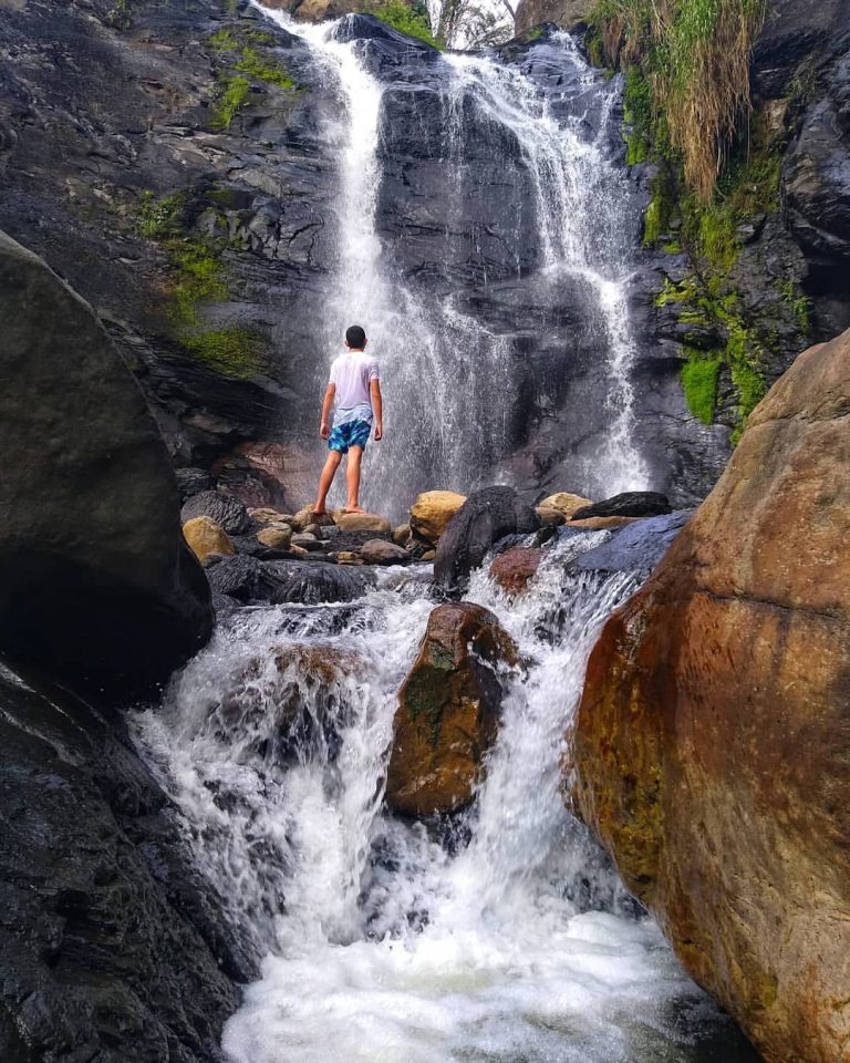
[[[300,438],[308,411],[313,427],[323,369],[312,347],[314,308],[334,255],[335,185],[322,114],[336,102],[298,39],[267,28],[247,7],[232,17],[218,0],[190,8],[134,0],[126,18],[116,10],[111,0],[28,0],[3,10],[0,227],[97,308],[178,463],[208,468],[242,443]],[[226,130],[217,127],[215,101],[234,76],[235,53],[214,43],[222,31],[273,32],[274,47],[260,47],[263,59],[299,86],[253,81]],[[157,215],[174,197],[180,208]],[[165,230],[157,217],[166,218]],[[214,340],[229,330],[239,348],[238,338],[249,336],[229,364],[212,340],[212,357],[183,343],[173,238],[224,247],[227,296],[201,302],[198,314]],[[243,453],[236,458],[246,500],[258,499],[257,482],[274,495],[277,471],[256,461],[249,467]]]

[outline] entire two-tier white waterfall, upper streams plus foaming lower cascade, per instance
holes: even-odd
[[[428,299],[393,268],[379,238],[390,90],[369,71],[369,45],[339,40],[335,25],[269,16],[310,41],[340,94],[329,130],[341,188],[328,358],[359,318],[405,426],[371,447],[382,493],[372,497],[410,504],[424,460],[416,444],[436,455],[428,474],[439,471],[439,486],[468,487],[499,467],[510,441],[517,352],[456,291]],[[569,38],[554,47],[597,93]],[[605,339],[605,431],[564,486],[643,486],[621,178],[603,132],[590,135],[527,70],[457,55],[439,61],[438,76],[447,255],[468,200],[475,122],[512,145],[530,182],[536,290],[557,299],[579,285]],[[397,691],[434,607],[426,566],[379,572],[355,602],[241,610],[164,704],[137,715],[136,740],[196,865],[261,959],[225,1031],[230,1063],[692,1063],[723,1033],[560,793],[588,654],[638,586],[629,574],[571,570],[607,536],[557,539],[517,600],[486,564],[475,574],[467,597],[497,615],[525,669],[506,680],[486,778],[450,823],[407,822],[382,801]]]

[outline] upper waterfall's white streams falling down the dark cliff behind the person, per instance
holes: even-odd
[[[308,40],[339,92],[339,118],[329,131],[340,175],[339,254],[318,329],[330,359],[345,326],[362,323],[382,363],[388,431],[380,446],[367,451],[366,504],[401,515],[418,489],[468,491],[499,481],[500,462],[516,443],[518,396],[529,386],[515,341],[464,307],[464,292],[456,287],[447,282],[435,292],[410,270],[405,275],[377,235],[382,137],[387,134],[384,99],[408,86],[387,86],[370,71],[370,42],[339,39],[344,20],[309,27],[279,11],[266,14]],[[634,348],[626,298],[631,230],[622,216],[628,195],[622,173],[604,149],[615,90],[598,83],[568,34],[556,41],[564,70],[583,92],[602,101],[595,136],[589,137],[581,113],[556,116],[550,94],[528,72],[485,58],[439,59],[442,132],[429,135],[443,194],[431,205],[439,217],[429,217],[428,225],[442,227],[448,239],[476,194],[470,124],[484,124],[496,143],[501,138],[511,145],[533,199],[532,287],[548,292],[556,305],[559,286],[580,287],[587,316],[602,333],[607,364],[594,442],[576,455],[569,483],[571,489],[608,496],[649,485],[633,440]],[[517,276],[527,268],[521,266],[526,210],[519,205],[512,230],[499,237],[514,245]],[[411,231],[415,228],[412,223]],[[486,292],[486,256],[483,262]],[[559,415],[569,421],[576,410],[568,404]]]

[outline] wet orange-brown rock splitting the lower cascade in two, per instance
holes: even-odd
[[[437,606],[398,693],[386,803],[411,816],[468,804],[501,708],[499,670],[517,648],[496,617],[467,601]]]

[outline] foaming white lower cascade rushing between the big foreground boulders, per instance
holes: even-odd
[[[561,793],[588,654],[640,582],[570,569],[607,538],[556,538],[518,597],[474,574],[467,600],[520,663],[484,781],[449,817],[382,804],[427,566],[385,569],[354,602],[242,610],[136,716],[197,865],[265,957],[228,1060],[751,1059]]]

